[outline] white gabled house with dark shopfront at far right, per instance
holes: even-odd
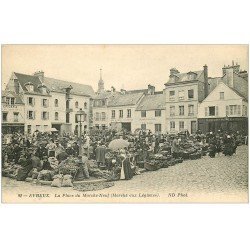
[[[218,130],[247,133],[247,99],[223,82],[199,104],[198,109],[198,127],[203,133]]]

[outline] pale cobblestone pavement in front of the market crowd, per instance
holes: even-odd
[[[8,178],[2,178],[2,188],[4,200],[10,195],[16,197],[17,192],[37,192],[50,193],[48,201],[54,202],[63,201],[54,199],[55,194],[65,194],[64,198],[66,196],[71,202],[110,202],[112,195],[118,202],[248,202],[248,147],[238,147],[236,155],[231,157],[205,156],[145,172],[128,181],[117,181],[111,188],[85,192],[88,197],[78,199],[67,197],[66,194],[74,196],[79,193],[71,188],[37,186]],[[99,194],[104,197],[93,198]]]

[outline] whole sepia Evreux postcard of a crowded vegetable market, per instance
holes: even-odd
[[[247,203],[248,45],[2,45],[3,203]]]

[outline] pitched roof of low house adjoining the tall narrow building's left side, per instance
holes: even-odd
[[[166,99],[164,94],[145,95],[138,104],[136,110],[165,109],[165,103]]]

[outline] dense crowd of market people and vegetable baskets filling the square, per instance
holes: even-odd
[[[116,150],[110,149],[110,142],[116,139],[127,141],[128,145]],[[142,130],[137,134],[100,130],[86,133],[82,138],[73,134],[39,131],[32,135],[14,133],[10,136],[2,135],[2,166],[8,170],[18,166],[16,179],[22,181],[34,172],[37,173],[35,177],[40,172],[48,171],[54,175],[60,174],[60,170],[69,165],[76,166],[73,167],[73,174],[67,172],[72,174],[73,180],[88,179],[97,173],[97,170],[91,169],[91,164],[106,178],[128,180],[140,174],[140,169],[154,156],[165,157],[162,159],[170,159],[167,156],[171,159],[187,159],[190,156],[191,159],[194,154],[209,155],[211,158],[216,154],[232,156],[242,143],[247,143],[246,136],[239,131],[220,130],[207,134],[197,131],[193,135],[188,132],[155,135],[151,131]]]

